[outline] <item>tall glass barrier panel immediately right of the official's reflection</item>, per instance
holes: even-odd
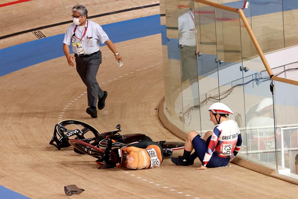
[[[195,20],[197,39],[198,84],[200,91],[199,104],[194,106],[194,112],[200,110],[201,132],[213,130],[214,124],[210,121],[208,108],[219,101],[218,71],[215,59],[217,58],[215,11],[214,7],[203,3],[195,3]]]

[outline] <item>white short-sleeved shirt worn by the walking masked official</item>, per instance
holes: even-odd
[[[88,28],[87,28],[87,21],[88,21]],[[85,28],[87,28],[87,31],[84,36],[84,41],[82,39],[81,43],[83,45],[85,54],[88,55],[88,54],[97,52],[99,50],[99,42],[104,44],[107,40],[109,40],[109,37],[108,35],[106,35],[106,32],[102,30],[102,26],[100,26],[99,24],[93,21],[90,21],[90,20],[87,20],[87,21],[85,24]],[[72,41],[71,37],[74,34],[75,24],[71,24],[65,33],[63,43],[66,45],[72,45],[73,43],[80,42],[80,39],[84,35],[85,28],[81,30],[81,28],[79,28],[78,26],[75,31],[75,36],[78,37],[79,39],[74,36],[73,38],[75,38],[75,41]],[[89,40],[89,44],[88,44],[88,40]],[[77,53],[76,47],[73,45],[72,45],[72,50],[74,51],[74,53]]]

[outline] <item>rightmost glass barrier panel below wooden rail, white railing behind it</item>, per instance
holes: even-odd
[[[298,179],[298,86],[278,81],[273,83],[278,173]]]

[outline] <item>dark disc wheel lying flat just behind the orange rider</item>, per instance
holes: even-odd
[[[112,148],[126,146],[132,142],[152,141],[150,137],[142,133],[127,133],[127,134],[122,134],[121,136],[122,137],[120,139],[110,136],[113,140],[115,140],[115,142],[113,142],[112,144]],[[107,139],[103,139],[98,143],[98,145],[102,147],[106,147]]]

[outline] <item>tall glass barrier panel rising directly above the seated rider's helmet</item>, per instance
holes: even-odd
[[[245,127],[243,70],[239,14],[215,8],[219,100],[235,114],[239,128]]]

